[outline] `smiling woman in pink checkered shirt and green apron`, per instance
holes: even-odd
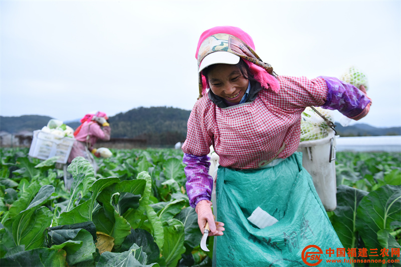
[[[199,228],[203,232],[208,221],[209,235],[219,236],[216,264],[298,266],[302,244],[323,248],[332,239],[341,247],[296,152],[301,113],[320,106],[358,120],[371,105],[364,87],[333,77],[277,76],[255,53],[252,38],[236,27],[205,31],[195,56],[199,98],[188,120],[183,163]],[[216,221],[211,145],[220,156]],[[250,223],[258,207],[278,222],[263,229]]]

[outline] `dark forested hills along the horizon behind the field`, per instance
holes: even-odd
[[[186,122],[190,111],[171,107],[135,108],[110,117],[112,138],[145,139],[148,145],[173,145],[186,138]],[[47,125],[51,117],[25,115],[21,117],[0,117],[0,131],[17,133],[33,131]],[[66,122],[76,129],[80,123]],[[368,124],[354,124],[335,128],[340,136],[382,136],[401,135],[401,127],[376,128]]]

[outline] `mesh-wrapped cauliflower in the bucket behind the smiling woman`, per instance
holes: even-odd
[[[315,107],[315,109],[333,121],[331,110]],[[301,114],[301,142],[322,139],[328,136],[330,127],[312,108],[307,107]]]

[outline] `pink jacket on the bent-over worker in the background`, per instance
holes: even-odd
[[[102,127],[94,121],[84,122],[81,130],[75,136],[76,141],[71,149],[68,162],[71,163],[71,161],[76,157],[87,158],[86,148],[88,148],[89,151],[92,151],[93,146],[98,139],[105,141],[110,140],[110,132],[111,128],[109,126],[105,126],[102,129]]]

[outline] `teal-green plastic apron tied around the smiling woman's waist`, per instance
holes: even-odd
[[[316,193],[312,177],[302,167],[302,154],[294,153],[278,165],[252,170],[219,167],[217,220],[225,223],[216,237],[217,266],[307,266],[302,251],[321,248],[320,266],[349,266],[336,257],[342,244]],[[247,218],[257,207],[278,222],[259,229]],[[329,257],[326,249],[333,249]],[[306,251],[318,251],[310,248]],[[313,258],[312,258],[313,259]],[[326,259],[342,262],[326,263]],[[309,263],[311,256],[306,258]]]

